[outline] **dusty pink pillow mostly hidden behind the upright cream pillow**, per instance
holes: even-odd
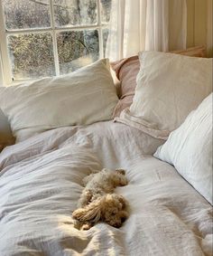
[[[191,57],[205,57],[206,49],[204,46],[197,46],[186,50],[173,51],[172,53]],[[140,70],[140,62],[138,56],[133,56],[117,62],[111,62],[111,66],[113,70],[116,71],[116,77],[120,81],[120,100],[114,112],[114,117],[119,117],[121,111],[129,108],[133,103],[136,76]]]

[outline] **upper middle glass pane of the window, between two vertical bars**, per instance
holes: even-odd
[[[53,0],[57,26],[97,24],[97,0]]]

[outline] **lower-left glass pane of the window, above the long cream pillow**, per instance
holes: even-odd
[[[7,37],[14,80],[55,75],[51,33]]]

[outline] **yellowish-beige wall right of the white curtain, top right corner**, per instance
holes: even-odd
[[[212,0],[187,0],[187,46],[205,45],[213,57]]]

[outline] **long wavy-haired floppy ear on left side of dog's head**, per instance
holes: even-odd
[[[101,217],[100,199],[88,204],[85,208],[79,208],[72,213],[72,217],[80,223],[91,222],[97,223]]]

